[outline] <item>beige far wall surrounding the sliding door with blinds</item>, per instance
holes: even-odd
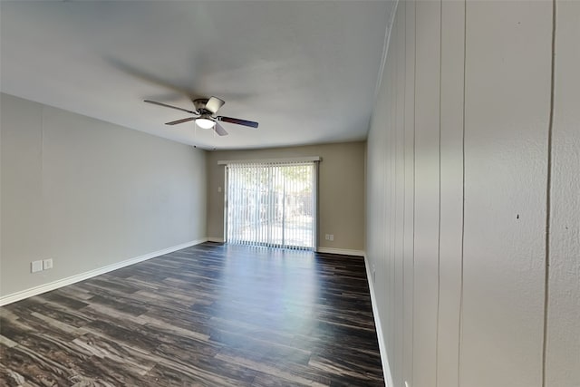
[[[270,150],[208,152],[208,237],[224,237],[224,170],[218,160],[258,160],[320,156],[319,247],[364,249],[364,142]],[[218,192],[218,188],[222,188]],[[324,240],[333,234],[334,241]]]

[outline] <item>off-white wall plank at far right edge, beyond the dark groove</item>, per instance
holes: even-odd
[[[556,3],[546,386],[580,386],[580,2]]]

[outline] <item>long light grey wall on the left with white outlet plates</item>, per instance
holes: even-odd
[[[206,237],[205,151],[6,94],[0,109],[1,296]]]

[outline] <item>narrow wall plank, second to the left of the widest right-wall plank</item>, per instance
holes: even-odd
[[[413,387],[436,383],[440,213],[440,2],[416,8]]]

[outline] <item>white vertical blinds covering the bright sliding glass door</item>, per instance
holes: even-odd
[[[314,249],[314,161],[227,165],[227,243]]]

